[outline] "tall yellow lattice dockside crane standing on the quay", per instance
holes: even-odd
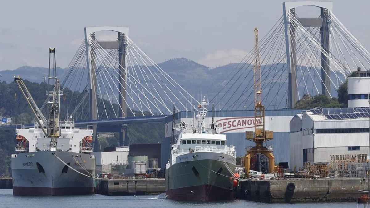
[[[272,150],[263,147],[263,142],[273,139],[273,131],[265,130],[265,106],[262,105],[261,88],[261,65],[259,61],[258,28],[255,28],[255,47],[254,47],[254,89],[255,89],[255,128],[253,131],[246,131],[246,139],[255,142],[255,146],[247,151],[244,157],[245,174],[249,175],[250,158],[261,153],[266,155],[269,160],[269,172],[274,172],[275,156]]]

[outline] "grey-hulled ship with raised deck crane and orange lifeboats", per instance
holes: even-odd
[[[55,66],[55,48],[49,48],[49,53],[54,55]],[[22,78],[14,77],[14,81],[26,98],[35,122],[33,128],[16,129],[17,154],[11,155],[13,195],[94,194],[92,128],[75,128],[72,116],[60,121],[63,89],[60,89],[55,68],[49,76],[53,89],[47,91],[48,119],[37,107]]]

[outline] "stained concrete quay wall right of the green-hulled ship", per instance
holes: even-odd
[[[356,201],[369,178],[240,181],[236,198],[258,202]],[[363,193],[360,193],[360,195]]]

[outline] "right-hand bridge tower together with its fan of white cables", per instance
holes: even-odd
[[[301,18],[296,9],[303,6],[317,8],[317,13]],[[333,3],[325,1],[283,3],[283,15],[259,43],[266,108],[294,108],[304,94],[336,97],[336,90],[352,71],[369,69],[369,51],[332,8]],[[253,61],[250,50],[221,87],[215,88],[211,102],[218,109],[253,109]]]

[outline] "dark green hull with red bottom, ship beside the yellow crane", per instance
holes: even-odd
[[[235,157],[217,152],[194,152],[178,157],[182,161],[176,158],[176,163],[166,170],[168,199],[233,199],[233,176],[228,169],[235,170]]]

